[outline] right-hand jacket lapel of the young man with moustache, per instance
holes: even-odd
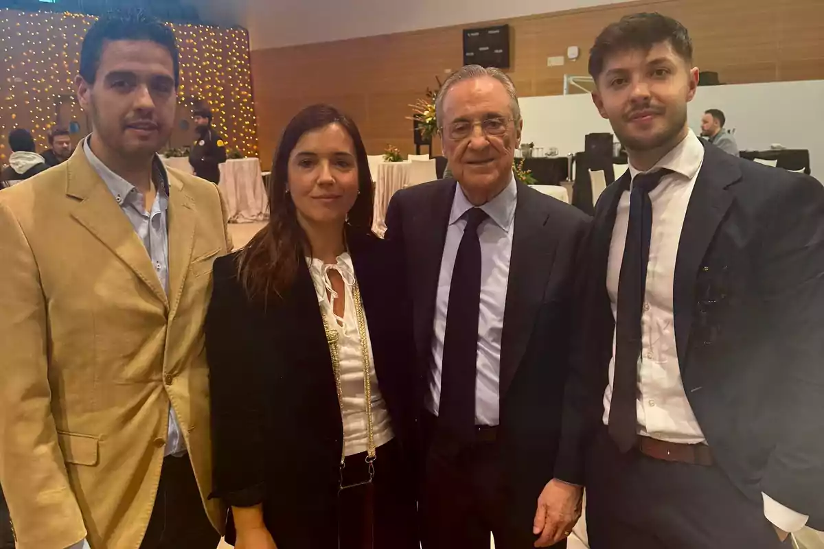
[[[698,269],[733,202],[733,193],[728,192],[727,188],[741,176],[741,170],[732,156],[715,147],[705,147],[704,164],[695,179],[695,188],[681,229],[672,289],[678,363],[682,375],[692,330]]]

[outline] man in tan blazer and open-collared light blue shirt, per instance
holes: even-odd
[[[214,549],[203,323],[218,188],[165,170],[172,31],[101,19],[72,158],[0,192],[0,482],[19,549]]]

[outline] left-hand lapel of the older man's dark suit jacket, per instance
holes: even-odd
[[[415,324],[415,345],[419,356],[428,357],[432,352],[433,322],[435,319],[435,302],[438,300],[438,278],[441,274],[441,260],[443,258],[443,244],[447,240],[449,213],[452,212],[452,201],[455,198],[457,182],[447,179],[438,184],[431,204],[421,204],[423,209],[429,207],[429,212],[416,212],[414,216],[414,231],[421,235],[416,240],[419,249],[414,254],[420,260],[420,293],[415,299],[415,314],[418,322]],[[428,364],[428,358],[427,364]]]

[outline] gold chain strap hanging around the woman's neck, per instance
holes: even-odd
[[[360,287],[358,281],[352,286],[352,297],[355,306],[355,316],[358,318],[358,335],[361,340],[361,357],[363,359],[363,400],[366,405],[367,417],[367,462],[369,463],[369,480],[374,476],[374,462],[376,457],[375,451],[375,433],[372,429],[372,361],[369,357],[369,341],[366,331],[366,314],[363,313],[363,302],[361,301]],[[340,386],[340,350],[339,350],[339,333],[333,330],[329,322],[326,320],[326,315],[321,310],[321,319],[323,319],[323,329],[326,333],[326,342],[329,344],[330,356],[332,358],[332,370],[335,372],[335,387],[338,390],[338,403],[340,406],[340,417],[344,416],[344,391]],[[345,449],[341,445],[340,452],[340,467],[344,467],[346,458]]]

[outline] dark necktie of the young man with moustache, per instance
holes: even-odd
[[[638,361],[641,356],[641,315],[647,286],[649,240],[653,232],[653,203],[649,192],[672,173],[658,170],[639,174],[630,192],[630,222],[618,281],[616,314],[616,365],[608,430],[621,452],[629,451],[638,438],[636,398]]]

